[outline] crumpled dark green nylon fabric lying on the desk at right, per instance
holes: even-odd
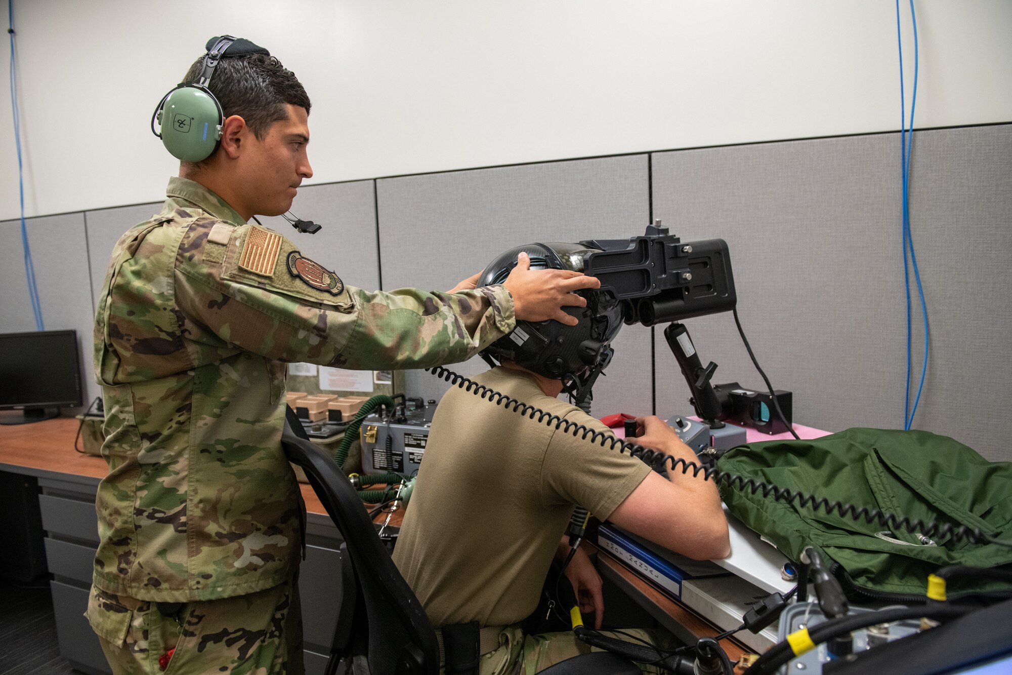
[[[723,471],[794,492],[898,517],[939,520],[954,527],[980,527],[1012,539],[1012,463],[989,462],[972,448],[945,436],[921,431],[848,429],[815,440],[764,441],[729,450],[718,462]],[[935,546],[915,534],[855,522],[796,503],[775,501],[762,492],[737,490],[726,481],[721,493],[731,513],[797,560],[808,545],[839,564],[854,589],[876,594],[921,595],[929,574],[948,565],[991,568],[1012,562],[1012,548],[932,535]],[[844,587],[848,588],[845,583]],[[953,580],[949,597],[968,592],[1008,591],[1008,584]],[[867,599],[867,598],[864,598]]]

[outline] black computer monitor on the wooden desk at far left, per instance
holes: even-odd
[[[22,410],[0,424],[55,418],[60,407],[81,405],[81,395],[76,330],[0,334],[0,409]]]

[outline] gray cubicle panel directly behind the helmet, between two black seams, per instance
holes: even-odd
[[[647,176],[647,155],[630,155],[377,180],[384,288],[448,290],[513,246],[642,233]],[[651,410],[650,351],[648,329],[619,333],[595,413]],[[486,368],[477,358],[453,367],[468,375]],[[438,398],[446,385],[410,371],[407,388]]]

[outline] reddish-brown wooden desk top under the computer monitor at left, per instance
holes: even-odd
[[[74,450],[74,435],[79,421],[74,418],[57,418],[44,422],[10,427],[0,426],[0,464],[54,473],[70,473],[100,480],[107,467],[101,457],[86,455]],[[299,483],[309,513],[326,515],[327,512],[313,488]],[[375,490],[382,485],[376,485]],[[394,514],[391,525],[400,525],[403,509]],[[376,519],[386,518],[376,514]],[[383,522],[382,520],[380,522]]]

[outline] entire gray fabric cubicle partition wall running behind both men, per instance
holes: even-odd
[[[292,209],[323,223],[298,234],[261,219],[351,285],[448,289],[501,250],[537,240],[618,237],[653,215],[685,239],[731,245],[742,320],[795,418],[840,430],[899,427],[906,323],[897,134],[784,141],[310,185]],[[651,184],[650,175],[653,176]],[[1008,300],[1012,125],[917,132],[912,220],[931,317],[915,427],[990,459],[1012,459]],[[374,191],[374,192],[373,192]],[[378,209],[378,213],[376,210]],[[47,327],[79,332],[88,395],[93,298],[118,235],[158,204],[29,220]],[[16,221],[0,223],[0,331],[34,327]],[[915,321],[919,310],[914,305]],[[730,315],[689,323],[716,381],[759,386]],[[920,334],[920,329],[915,331]],[[656,347],[656,364],[652,349]],[[921,363],[915,336],[914,388]],[[595,413],[688,410],[661,331],[623,328]],[[458,370],[476,374],[474,360]],[[411,372],[408,393],[445,385]]]

